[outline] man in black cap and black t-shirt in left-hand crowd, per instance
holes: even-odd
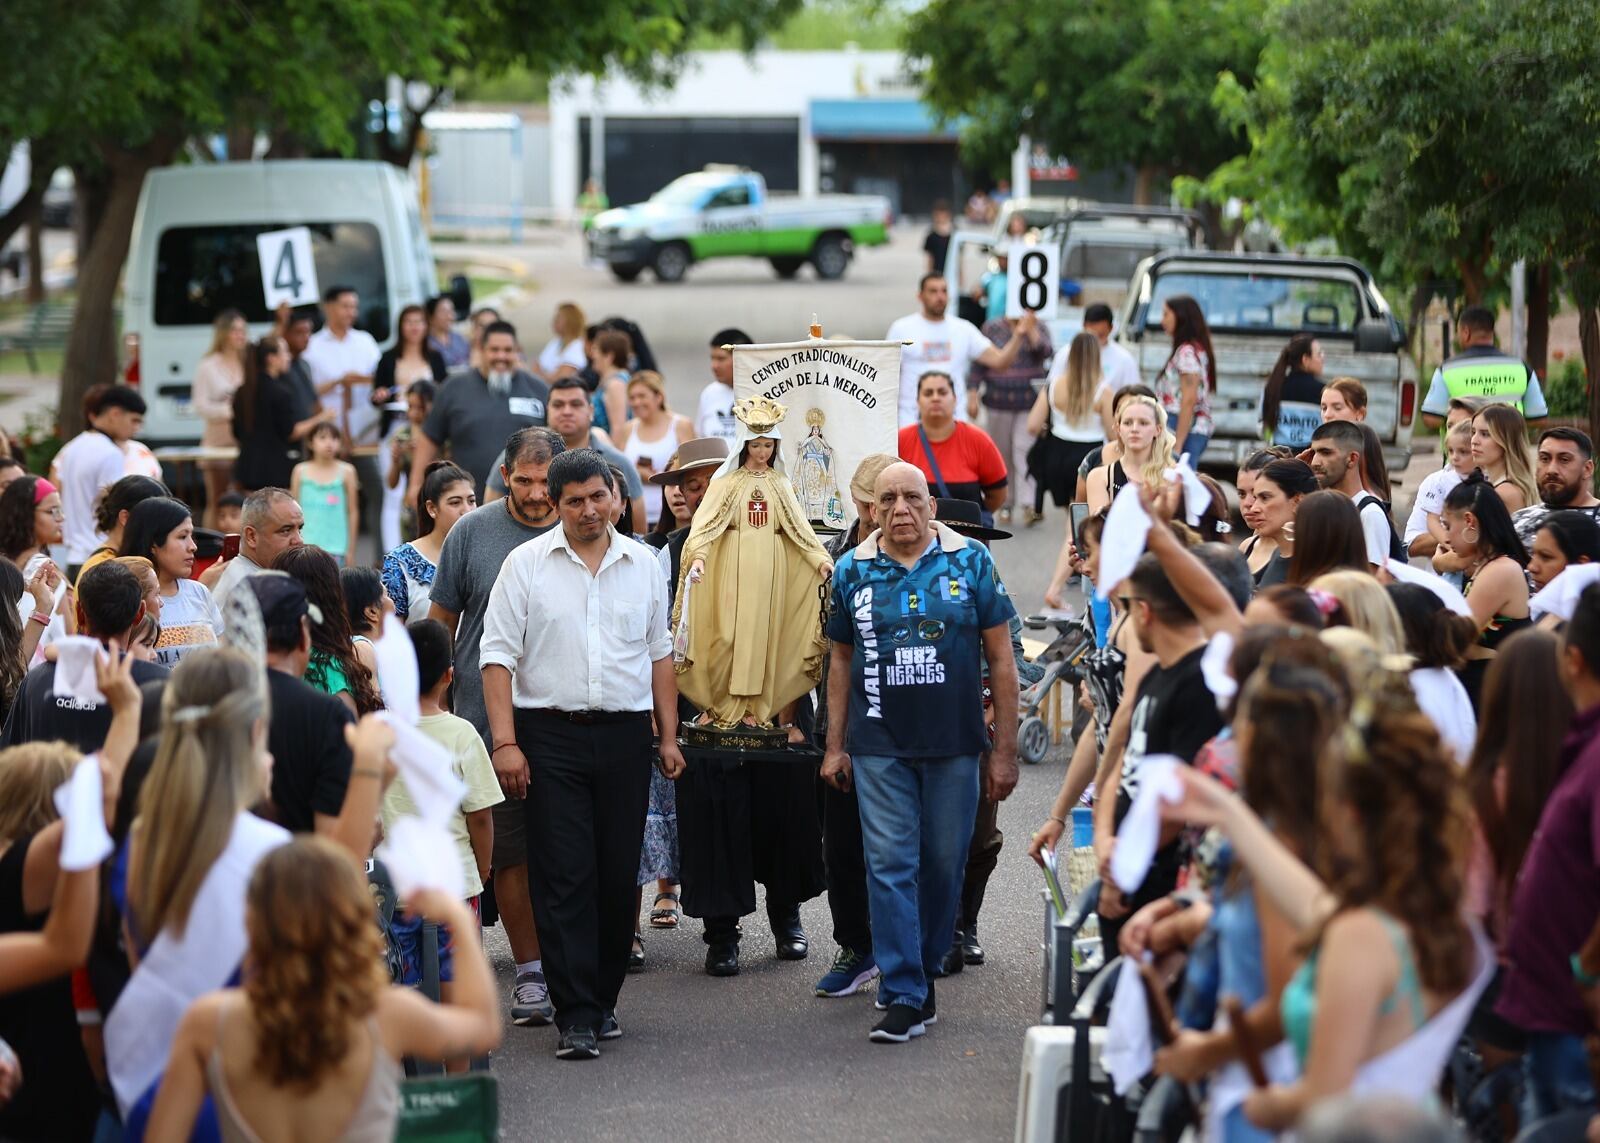
[[[310,624],[322,623],[322,612],[307,602],[299,580],[282,572],[259,572],[245,584],[256,594],[267,634],[270,816],[296,834],[333,832],[350,781],[344,727],[354,719],[344,703],[301,682],[310,661]]]

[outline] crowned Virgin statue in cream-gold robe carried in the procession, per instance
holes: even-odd
[[[678,690],[718,727],[766,727],[822,672],[818,588],[834,573],[778,456],[787,410],[734,402],[736,450],[683,544],[672,608]]]

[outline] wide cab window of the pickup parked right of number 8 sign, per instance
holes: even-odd
[[[1360,288],[1350,279],[1187,271],[1155,279],[1144,328],[1160,330],[1162,304],[1179,295],[1200,303],[1213,330],[1352,333],[1362,320]]]

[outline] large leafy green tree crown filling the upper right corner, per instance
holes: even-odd
[[[1518,258],[1560,266],[1600,392],[1600,26],[1560,0],[1294,0],[1254,80],[1213,98],[1248,154],[1198,186],[1291,242],[1467,301]],[[1541,275],[1544,277],[1544,275]],[[1600,407],[1595,410],[1600,421]]]

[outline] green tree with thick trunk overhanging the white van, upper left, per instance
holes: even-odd
[[[382,157],[408,163],[450,77],[525,67],[672,80],[690,38],[754,43],[800,0],[8,0],[0,154],[27,139],[78,178],[78,307],[61,423],[115,375],[114,299],[146,174],[211,157],[352,154],[389,75],[421,98]]]

